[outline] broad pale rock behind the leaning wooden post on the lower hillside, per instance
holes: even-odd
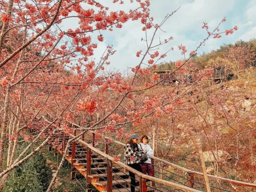
[[[226,161],[231,159],[231,156],[226,151],[218,150],[218,151],[212,151],[217,159],[218,162],[220,161]],[[214,162],[214,156],[211,151],[204,151],[203,157],[205,162]]]

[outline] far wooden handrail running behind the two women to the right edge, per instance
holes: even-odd
[[[47,114],[48,114],[49,116],[51,116],[49,113],[47,113]],[[76,127],[78,127],[78,128],[81,128],[81,126],[78,125],[78,124],[72,123],[72,125],[74,125],[74,126],[76,126]],[[91,133],[96,133],[95,131],[91,131],[91,130],[90,130],[89,132],[91,132]],[[109,138],[109,137],[107,137],[107,136],[105,136],[104,138],[106,138],[106,139],[112,139],[112,138]],[[116,140],[113,140],[113,142],[114,142],[114,143],[117,143],[117,144],[120,144],[120,145],[122,145],[122,146],[126,146],[124,143],[119,142],[119,141],[116,141]],[[110,156],[109,156],[109,157],[110,157]],[[177,169],[180,169],[180,170],[182,170],[182,171],[184,171],[184,172],[187,172],[187,173],[195,173],[195,174],[198,174],[198,175],[203,176],[203,173],[202,173],[202,172],[197,172],[197,171],[194,171],[194,170],[191,170],[191,169],[187,169],[187,168],[185,168],[185,167],[178,166],[178,165],[176,165],[176,164],[174,164],[174,163],[171,163],[171,162],[169,162],[169,161],[166,161],[166,160],[164,160],[164,159],[161,159],[161,158],[158,158],[158,157],[155,157],[155,156],[153,156],[153,157],[151,157],[151,158],[152,158],[152,159],[155,159],[155,160],[158,160],[158,161],[161,161],[161,162],[164,162],[164,163],[166,163],[166,164],[168,164],[168,165],[171,165],[171,166],[173,166],[173,167],[176,167]],[[140,172],[139,172],[139,173],[140,173]],[[219,177],[219,176],[214,176],[214,175],[210,175],[210,174],[207,174],[207,175],[208,175],[208,177],[210,177],[210,178],[214,178],[214,179],[218,179],[218,180],[221,180],[221,181],[230,182],[230,183],[232,183],[232,184],[256,188],[256,184],[253,184],[253,183],[231,180],[231,179],[228,179],[228,178]]]

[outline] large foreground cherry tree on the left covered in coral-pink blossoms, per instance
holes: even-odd
[[[113,3],[123,4],[124,1],[114,0]],[[73,122],[79,123],[80,128],[76,130],[82,132],[68,140],[48,191],[64,163],[69,144],[84,132],[98,130],[99,135],[116,132],[120,136],[125,125],[143,124],[147,117],[159,117],[163,109],[171,110],[172,102],[180,104],[179,98],[186,91],[166,102],[163,102],[165,93],[158,98],[140,95],[156,85],[150,81],[141,85],[140,79],[162,63],[167,53],[173,50],[170,48],[164,53],[157,50],[173,37],[158,42],[154,39],[157,31],[161,31],[166,20],[178,9],[157,24],[150,15],[149,0],[131,3],[136,8],[125,12],[105,7],[94,0],[0,1],[1,187],[11,170],[52,142],[53,135],[73,133],[75,128],[69,126]],[[68,18],[76,18],[79,27],[63,30],[62,25]],[[93,56],[97,44],[104,41],[101,32],[114,32],[118,30],[114,27],[121,28],[128,20],[141,21],[145,32],[142,41],[146,46],[145,50],[135,53],[141,60],[132,68],[133,76],[124,79],[119,73],[104,72],[106,65],[110,64],[109,57],[115,53],[112,46],[107,46],[102,55],[97,56],[98,62]],[[225,20],[219,25],[222,22]],[[204,23],[207,37],[188,58],[185,57],[185,46],[178,47],[185,60],[173,72],[185,66],[208,38],[220,34],[219,25],[209,32],[208,25]],[[153,34],[148,35],[148,31],[153,31]],[[97,41],[91,33],[97,33]],[[207,70],[199,74],[198,80],[207,75]],[[50,121],[46,113],[50,114]],[[91,116],[96,118],[89,124]],[[38,120],[41,117],[45,121]],[[19,142],[27,142],[28,146],[21,154],[16,154]],[[8,151],[7,159],[4,159],[5,149]],[[31,153],[27,155],[30,149]],[[4,161],[7,162],[6,168],[3,167]]]

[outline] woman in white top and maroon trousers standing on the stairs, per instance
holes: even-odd
[[[138,146],[141,147],[142,151],[146,151],[146,155],[148,157],[147,161],[145,161],[144,163],[140,163],[142,172],[144,174],[148,174],[149,176],[154,176],[154,170],[151,164],[151,157],[153,156],[153,150],[148,144],[148,136],[142,135],[142,137],[140,138],[140,142],[141,143]]]

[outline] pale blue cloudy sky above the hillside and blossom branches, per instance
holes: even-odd
[[[113,4],[112,0],[100,0],[100,3],[108,6],[110,11],[129,10],[135,8],[125,0],[123,5]],[[218,49],[222,44],[235,43],[240,39],[249,41],[256,38],[256,0],[151,0],[151,16],[154,17],[155,23],[160,23],[165,15],[172,13],[178,7],[179,10],[167,20],[163,25],[162,30],[157,33],[154,42],[173,37],[173,41],[159,48],[159,53],[162,54],[171,47],[173,51],[167,54],[161,62],[176,61],[184,58],[181,51],[178,50],[178,45],[185,45],[188,54],[195,50],[200,42],[207,37],[207,33],[202,29],[203,22],[207,22],[210,31],[215,29],[218,23],[226,17],[227,21],[223,23],[219,29],[225,31],[231,29],[235,25],[238,30],[233,34],[223,34],[221,38],[209,39],[205,46],[202,46],[198,53],[208,53],[211,50]],[[76,28],[74,21],[67,21],[70,28]],[[123,28],[113,31],[101,31],[104,41],[98,43],[98,48],[95,50],[95,60],[99,60],[106,46],[113,45],[117,51],[109,61],[108,70],[116,70],[120,72],[127,71],[127,68],[135,67],[139,64],[140,59],[136,57],[136,52],[146,50],[145,42],[141,38],[145,37],[142,31],[140,20],[129,21],[124,23]],[[151,33],[150,33],[151,32]],[[152,34],[149,31],[148,36]],[[93,41],[97,42],[98,33],[90,34]],[[149,37],[148,37],[149,38]],[[188,55],[187,55],[188,56]],[[146,60],[147,61],[147,60]]]

